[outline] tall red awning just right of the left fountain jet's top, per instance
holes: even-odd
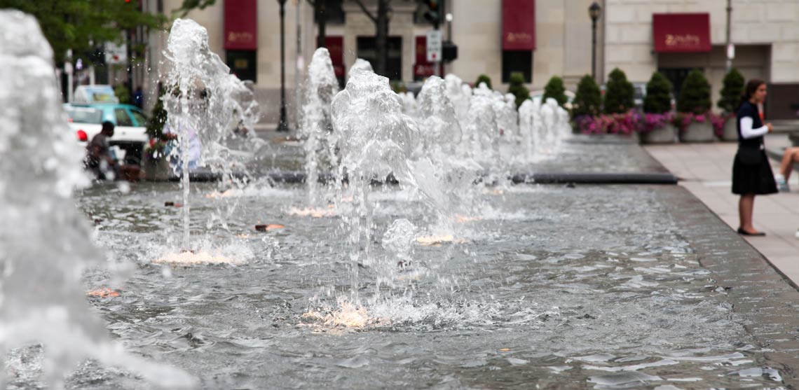
[[[256,0],[225,0],[225,50],[258,49]]]

